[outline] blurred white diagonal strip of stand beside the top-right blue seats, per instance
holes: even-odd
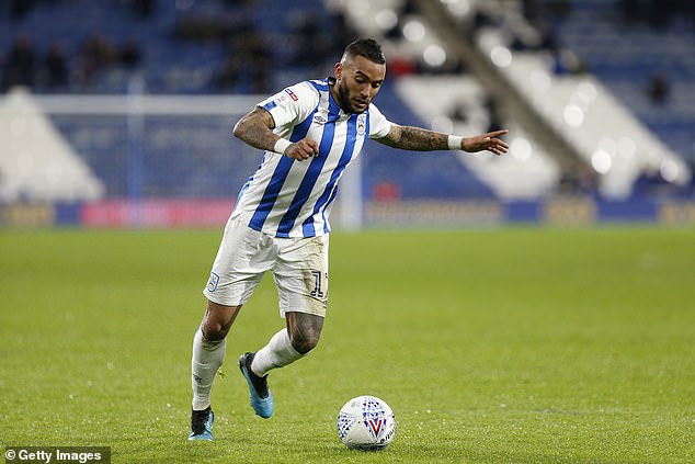
[[[460,1],[447,2],[453,3]],[[538,20],[550,3],[504,0],[467,3],[474,5],[468,16],[457,18],[456,22],[471,27],[480,54],[528,101],[533,111],[545,120],[547,129],[560,134],[600,174],[599,193],[603,197],[626,200],[636,192],[642,193],[635,186],[651,173],[660,178],[662,186],[668,186],[660,189],[661,193],[690,192],[692,169],[687,157],[665,144],[666,134],[662,134],[663,139],[654,136],[601,79],[586,72],[583,57],[563,45],[554,30]],[[582,2],[557,3],[573,11],[571,7]],[[592,36],[586,31],[581,34],[584,42],[591,42]],[[614,36],[613,43],[619,44],[617,37]],[[619,52],[620,47],[614,48]],[[630,67],[626,69],[629,72]],[[681,124],[692,121],[673,115]]]

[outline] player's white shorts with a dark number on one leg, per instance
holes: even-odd
[[[265,271],[275,279],[280,314],[326,317],[328,235],[278,238],[251,229],[248,218],[230,218],[203,294],[213,303],[243,305]]]

